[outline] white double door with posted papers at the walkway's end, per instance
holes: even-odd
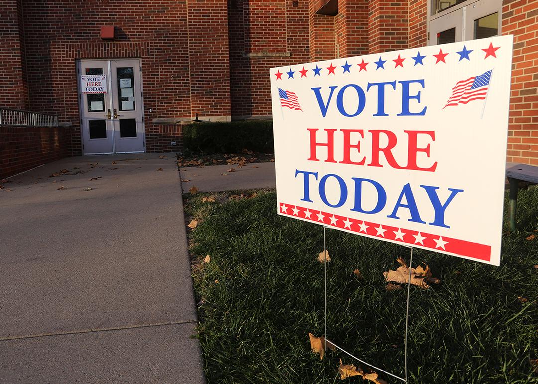
[[[77,74],[84,154],[144,152],[140,61],[80,60]],[[90,75],[105,75],[105,93],[85,93]]]

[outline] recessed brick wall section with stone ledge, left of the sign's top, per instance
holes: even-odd
[[[232,117],[272,114],[269,69],[310,61],[308,11],[305,1],[296,7],[289,0],[229,2]],[[254,36],[266,44],[254,43]]]

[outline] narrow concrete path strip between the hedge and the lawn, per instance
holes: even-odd
[[[228,170],[233,167],[233,172]],[[200,192],[276,187],[274,162],[181,167],[183,192],[192,186]],[[189,180],[189,181],[185,181]]]

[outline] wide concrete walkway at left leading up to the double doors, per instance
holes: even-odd
[[[72,157],[3,184],[0,382],[204,382],[166,156]]]

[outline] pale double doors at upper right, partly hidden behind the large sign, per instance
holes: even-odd
[[[440,2],[440,4],[456,1]],[[462,3],[462,2],[457,2]],[[458,41],[484,39],[500,35],[501,6],[500,0],[479,0],[463,2],[463,6],[454,6],[440,11],[431,17],[428,45],[457,43]]]

